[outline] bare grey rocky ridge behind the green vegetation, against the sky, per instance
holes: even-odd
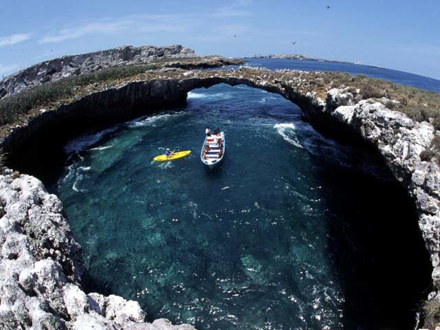
[[[181,45],[165,47],[123,46],[74,56],[63,56],[45,61],[12,74],[0,81],[0,98],[16,94],[34,86],[69,76],[94,72],[103,67],[144,64],[157,58],[196,57],[194,50]]]

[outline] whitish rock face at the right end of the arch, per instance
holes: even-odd
[[[420,154],[429,148],[436,133],[428,122],[414,122],[380,102],[362,100],[353,105],[341,89],[328,94],[333,104],[325,107],[373,144],[384,157],[396,179],[408,188],[419,212],[419,228],[432,261],[434,287],[440,288],[440,170],[432,159],[422,161]],[[334,97],[337,96],[337,97]]]

